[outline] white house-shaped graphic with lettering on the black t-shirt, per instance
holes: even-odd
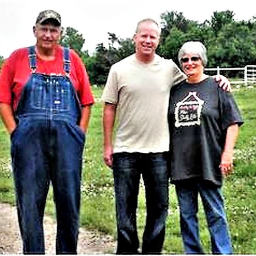
[[[196,92],[189,92],[175,107],[175,127],[200,125],[201,111],[204,101]]]

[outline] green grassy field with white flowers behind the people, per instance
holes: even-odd
[[[101,90],[94,89],[96,97]],[[232,235],[234,253],[256,254],[256,89],[239,89],[234,92],[245,124],[240,129],[235,150],[235,170],[226,179],[223,193]],[[81,225],[116,237],[113,178],[111,170],[102,160],[102,104],[97,102],[92,110],[89,133],[83,160],[81,199]],[[0,123],[0,201],[15,204],[10,164],[10,142],[5,128]],[[164,253],[183,253],[179,231],[177,200],[170,185],[170,206],[167,219]],[[46,212],[54,216],[52,191],[48,196]],[[139,236],[145,225],[145,198],[141,184],[138,207]],[[211,244],[205,216],[200,204],[200,237],[206,253],[211,253]]]

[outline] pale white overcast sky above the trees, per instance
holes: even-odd
[[[53,9],[61,14],[62,26],[83,34],[83,50],[92,53],[107,43],[107,32],[132,37],[139,20],[151,17],[160,22],[165,11],[183,12],[184,17],[203,22],[214,11],[234,11],[236,20],[256,16],[254,0],[0,0],[0,56],[33,45],[33,25],[40,11]]]

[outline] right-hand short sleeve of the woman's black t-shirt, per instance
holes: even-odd
[[[239,108],[234,100],[234,96],[230,92],[219,89],[220,94],[220,106],[221,106],[221,121],[222,128],[227,129],[232,124],[242,125],[243,119],[241,117]]]

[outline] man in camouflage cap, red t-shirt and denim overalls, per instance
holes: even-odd
[[[40,12],[33,33],[36,45],[14,51],[0,74],[0,115],[11,136],[23,253],[45,253],[43,217],[51,182],[56,253],[75,254],[82,153],[94,99],[83,62],[58,44],[61,16]]]

